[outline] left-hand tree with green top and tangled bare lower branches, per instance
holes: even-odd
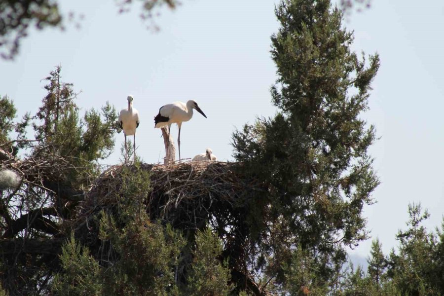
[[[63,83],[60,73],[57,67],[46,78],[47,95],[33,116],[27,113],[14,122],[12,100],[5,96],[0,100],[1,167],[23,179],[19,188],[1,192],[1,274],[4,288],[12,295],[16,289],[30,295],[46,291],[52,274],[51,268],[43,266],[57,265],[58,259],[44,243],[61,245],[63,223],[84,198],[84,188],[100,173],[97,160],[114,145],[114,108],[107,104],[101,113],[91,110],[80,118],[73,85]],[[25,139],[30,123],[35,140]],[[12,131],[15,140],[11,140]],[[25,242],[26,252],[18,247]]]

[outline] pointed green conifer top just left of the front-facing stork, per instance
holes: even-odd
[[[36,139],[40,139],[37,149],[47,146],[51,153],[67,158],[74,168],[85,168],[80,174],[71,170],[71,177],[82,182],[85,175],[97,173],[92,162],[106,158],[114,147],[113,134],[119,131],[116,111],[107,102],[101,113],[92,109],[80,119],[74,101],[77,94],[72,83],[62,81],[61,71],[58,66],[45,79],[47,94],[32,117],[33,128]]]

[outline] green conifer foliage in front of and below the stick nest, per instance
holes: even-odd
[[[74,295],[228,295],[229,270],[219,259],[222,242],[207,227],[197,232],[195,246],[189,245],[171,224],[152,222],[143,205],[143,196],[151,190],[149,174],[138,165],[136,171],[124,168],[119,203],[111,212],[100,212],[100,252],[107,253],[98,260],[101,267],[87,250],[80,252],[72,237],[60,256],[62,271],[55,276],[52,291]],[[185,285],[178,277],[188,253],[193,260]],[[90,284],[91,278],[95,285]]]

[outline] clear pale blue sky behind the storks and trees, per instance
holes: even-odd
[[[270,39],[277,31],[274,0],[183,0],[176,11],[161,10],[160,31],[147,30],[138,7],[119,15],[114,1],[61,1],[63,11],[83,14],[80,29],[31,31],[14,61],[0,60],[0,94],[14,100],[19,115],[35,113],[44,81],[62,65],[65,82],[81,93],[82,110],[106,101],[117,110],[128,94],[141,114],[138,155],[154,163],[164,154],[158,109],[193,99],[195,112],[182,126],[181,151],[191,158],[211,147],[220,160],[232,160],[231,133],[256,116],[270,116],[269,88],[276,79]],[[405,229],[407,205],[421,202],[430,212],[426,225],[441,225],[444,210],[444,2],[372,0],[370,9],[344,22],[355,32],[353,49],[377,51],[381,58],[373,82],[370,110],[363,114],[380,139],[370,149],[381,185],[376,204],[365,208],[368,228],[388,253]],[[172,129],[177,138],[177,128]],[[123,134],[107,164],[120,158]],[[356,256],[368,256],[371,240]]]

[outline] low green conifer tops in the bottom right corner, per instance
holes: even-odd
[[[397,235],[397,250],[388,255],[378,240],[372,243],[367,274],[358,266],[342,278],[334,295],[443,295],[442,229],[427,232],[422,222],[429,217],[420,204],[408,206],[409,221]],[[444,224],[443,224],[444,225]]]

